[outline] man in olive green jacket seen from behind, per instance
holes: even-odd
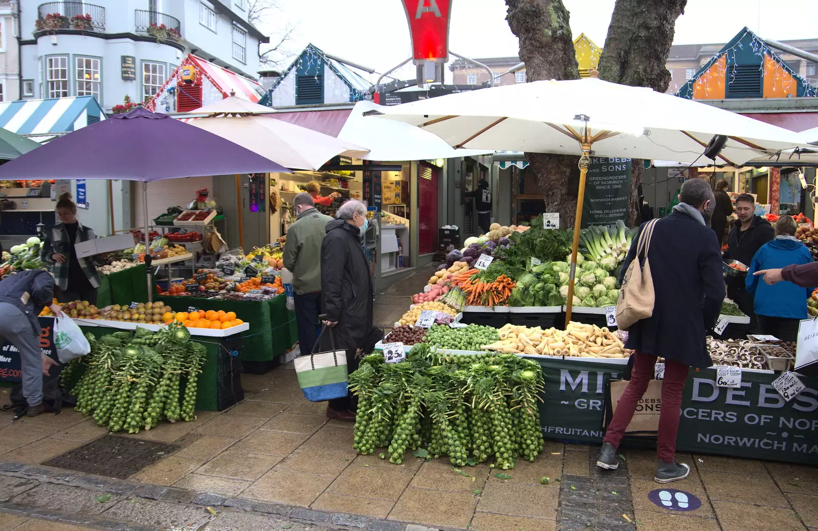
[[[318,316],[321,315],[321,243],[326,236],[330,216],[315,209],[307,193],[293,198],[299,214],[287,231],[284,245],[284,267],[293,273],[295,319],[302,353],[312,352],[318,340]]]

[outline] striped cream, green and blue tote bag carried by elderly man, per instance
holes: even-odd
[[[321,328],[319,340],[325,332],[330,335],[330,352],[315,353],[320,343],[316,341],[312,353],[293,360],[299,386],[304,398],[310,402],[324,402],[347,396],[347,353],[344,349],[335,349],[335,339],[329,326]]]

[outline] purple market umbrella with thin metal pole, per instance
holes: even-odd
[[[81,128],[0,166],[0,179],[161,179],[233,173],[290,173],[289,169],[238,144],[137,107]],[[150,244],[147,200],[145,247]],[[148,266],[148,298],[153,293]]]

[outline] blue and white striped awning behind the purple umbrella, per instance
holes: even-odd
[[[0,102],[0,127],[20,135],[68,133],[106,119],[92,96]]]

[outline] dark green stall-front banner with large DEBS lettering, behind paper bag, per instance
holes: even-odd
[[[542,434],[601,443],[606,388],[611,379],[622,378],[625,365],[537,362],[545,377]],[[788,401],[772,385],[777,377],[743,371],[741,387],[730,389],[719,387],[716,369],[691,370],[682,394],[676,450],[818,464],[818,379],[801,377],[804,389]]]

